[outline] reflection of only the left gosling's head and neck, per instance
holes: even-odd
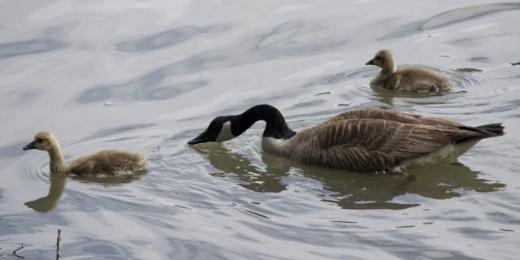
[[[49,193],[45,197],[25,202],[24,205],[40,213],[46,213],[53,210],[63,194],[65,189],[65,176],[51,175]]]

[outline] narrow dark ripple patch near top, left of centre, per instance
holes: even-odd
[[[230,28],[228,25],[184,25],[141,39],[119,42],[115,45],[115,49],[122,52],[142,52],[163,49],[189,41],[201,34],[223,33],[229,31]]]

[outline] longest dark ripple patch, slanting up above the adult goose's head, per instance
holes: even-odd
[[[266,32],[247,36],[227,47],[206,51],[173,64],[149,72],[129,82],[102,85],[84,91],[77,100],[92,103],[108,99],[117,100],[162,100],[208,85],[207,80],[185,83],[164,81],[175,75],[196,73],[212,68],[229,68],[242,64],[272,59],[311,56],[337,51],[349,43],[347,36],[327,35],[316,37],[324,26],[316,23],[290,21],[275,26]],[[173,81],[173,79],[171,79]]]

